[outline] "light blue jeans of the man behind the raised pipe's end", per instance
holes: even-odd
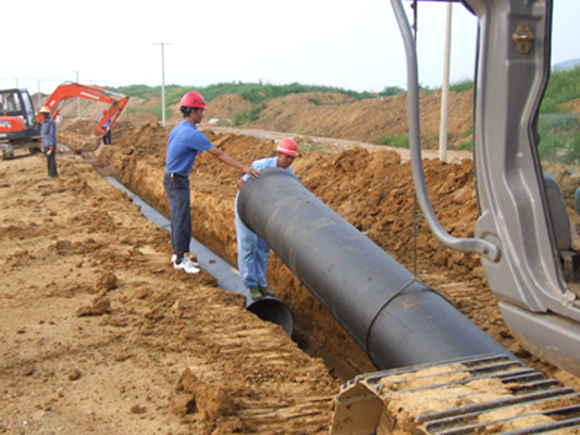
[[[266,270],[270,247],[266,241],[249,229],[237,214],[237,196],[234,206],[236,214],[237,237],[237,269],[244,285],[249,287],[268,287],[266,283]]]

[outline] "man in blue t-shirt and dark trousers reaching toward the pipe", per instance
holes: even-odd
[[[194,167],[197,154],[209,151],[223,163],[240,170],[252,178],[260,175],[258,170],[238,163],[215,148],[206,135],[197,129],[196,125],[203,119],[206,109],[206,101],[200,94],[187,92],[183,96],[180,110],[184,121],[170,132],[165,154],[163,187],[171,215],[171,243],[174,252],[171,261],[175,269],[183,269],[187,273],[199,272],[199,264],[186,256],[189,252],[189,243],[192,241],[188,175]]]

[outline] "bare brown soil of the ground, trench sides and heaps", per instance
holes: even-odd
[[[458,96],[449,128],[457,140],[472,107],[471,96]],[[206,120],[246,110],[236,96],[222,100]],[[437,104],[422,100],[423,138],[439,129]],[[577,377],[514,339],[478,257],[443,247],[421,217],[414,224],[407,151],[374,144],[405,133],[404,97],[288,96],[270,108],[270,120],[247,128],[200,128],[246,164],[273,154],[282,136],[295,137],[303,151],[293,169],[308,189],[526,364],[580,391]],[[46,178],[41,154],[0,162],[0,433],[328,433],[340,385],[375,368],[275,254],[268,279],[295,315],[293,337],[246,311],[240,295],[220,289],[205,271],[175,271],[169,232],[101,175],[168,215],[161,181],[177,120],[165,129],[127,112],[113,127],[113,146],[75,152],[94,127],[92,109],[83,107],[90,120],[65,117],[59,178]],[[443,226],[472,236],[470,153],[451,151],[447,162],[423,165]],[[567,166],[551,171],[576,216],[580,181]],[[194,237],[232,265],[239,175],[208,153],[190,174]]]

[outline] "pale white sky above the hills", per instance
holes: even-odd
[[[356,5],[355,5],[356,4]],[[410,1],[403,2],[412,22]],[[406,88],[390,0],[30,0],[3,23],[0,89],[300,83],[358,91]],[[421,1],[419,82],[441,87],[447,7]],[[580,0],[554,0],[552,64],[580,59]],[[472,79],[477,18],[452,14],[451,82]],[[163,45],[161,45],[163,44]],[[163,53],[163,55],[162,55]]]

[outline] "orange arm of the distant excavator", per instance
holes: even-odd
[[[122,94],[111,92],[106,89],[97,88],[95,86],[81,85],[78,83],[64,83],[60,85],[47,100],[46,105],[50,109],[50,116],[55,119],[59,114],[62,103],[70,98],[85,98],[87,100],[109,103],[110,108],[104,115],[99,120],[99,123],[92,130],[92,136],[102,137],[107,130],[103,125],[109,123],[109,128],[115,123],[116,119],[127,105],[128,97]],[[37,117],[37,122],[41,122],[41,116]]]

